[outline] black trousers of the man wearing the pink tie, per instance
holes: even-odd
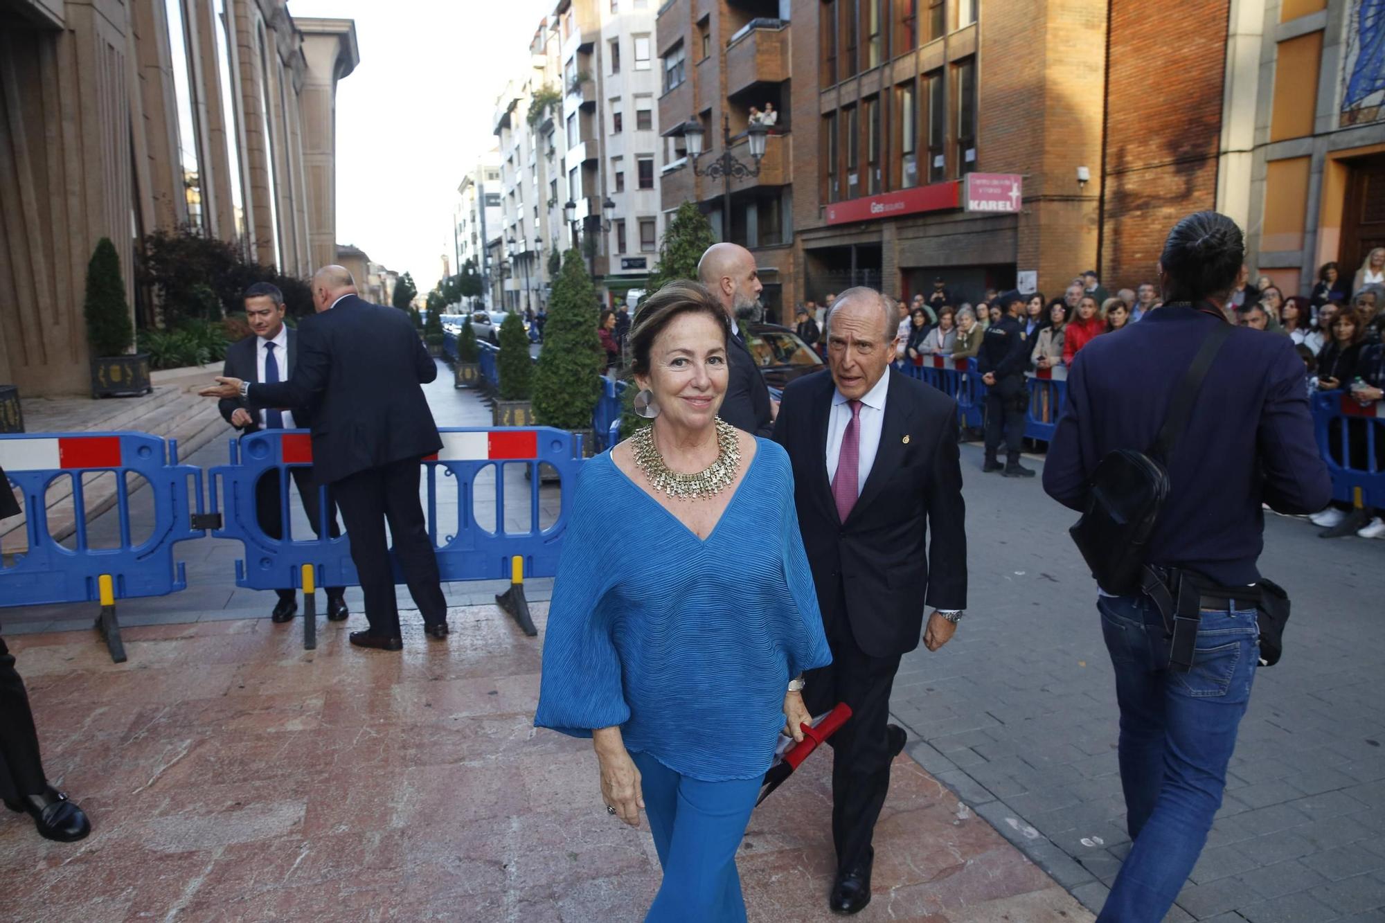
[[[845,617],[827,626],[832,662],[809,671],[803,704],[821,715],[839,701],[852,718],[828,740],[832,744],[832,845],[841,872],[875,858],[871,837],[889,790],[889,692],[899,657],[871,657],[852,635]]]

